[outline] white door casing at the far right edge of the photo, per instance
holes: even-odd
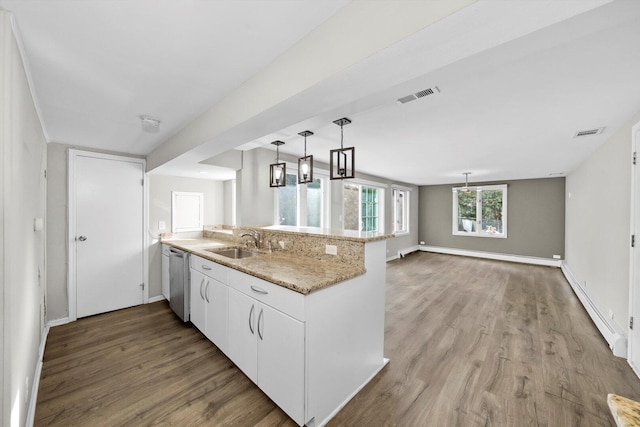
[[[634,247],[631,248],[630,274],[629,274],[629,316],[635,319],[633,328],[629,325],[629,340],[627,349],[627,361],[636,375],[640,376],[640,158],[637,157],[640,145],[640,123],[632,128],[631,149],[636,156],[635,165],[631,169],[631,235],[635,236]],[[630,322],[631,322],[630,319]]]

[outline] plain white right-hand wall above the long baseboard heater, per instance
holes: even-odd
[[[565,265],[605,315],[627,330],[631,127],[627,121],[567,176]]]

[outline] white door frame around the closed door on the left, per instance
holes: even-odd
[[[117,160],[122,162],[138,163],[142,165],[143,182],[142,182],[142,250],[143,250],[143,280],[144,290],[142,292],[142,303],[149,302],[149,245],[147,238],[148,222],[149,222],[149,192],[147,187],[147,173],[145,159],[137,157],[117,156],[113,154],[96,153],[92,151],[69,149],[69,163],[67,166],[67,183],[68,183],[68,235],[67,235],[67,297],[68,297],[68,313],[69,321],[77,320],[77,277],[76,277],[76,257],[75,257],[75,236],[76,236],[76,158],[92,157],[104,160]]]

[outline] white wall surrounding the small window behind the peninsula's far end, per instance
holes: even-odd
[[[203,193],[204,224],[224,222],[224,182],[165,175],[149,175],[149,298],[162,294],[160,233],[171,233],[171,192]],[[158,222],[166,223],[166,230]]]

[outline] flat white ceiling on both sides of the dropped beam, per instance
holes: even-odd
[[[15,13],[50,141],[148,154],[347,3],[0,7]],[[301,155],[297,133],[309,129],[308,151],[327,161],[340,136],[331,121],[347,116],[357,171],[414,184],[461,182],[465,171],[472,182],[566,175],[640,111],[638,46],[640,2],[480,1],[283,102],[289,117],[239,124],[229,144],[281,139],[282,152]],[[395,102],[433,86],[441,93]],[[141,114],[158,117],[161,131],[143,132]],[[227,148],[214,142],[154,172],[228,178],[198,163]]]

